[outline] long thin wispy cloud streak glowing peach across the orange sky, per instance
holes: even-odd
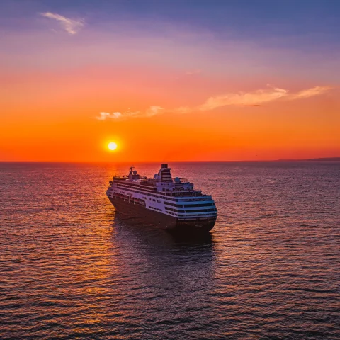
[[[179,108],[171,109],[164,109],[162,106],[150,106],[146,111],[130,111],[129,109],[125,113],[101,112],[96,118],[98,120],[106,120],[128,117],[152,117],[153,115],[158,115],[161,112],[189,113],[193,111],[211,111],[223,106],[261,106],[264,103],[270,103],[272,101],[277,101],[278,99],[293,101],[297,99],[310,98],[312,96],[325,94],[331,89],[332,88],[330,86],[315,86],[311,89],[305,89],[296,92],[295,94],[290,94],[290,92],[286,89],[270,87],[268,89],[260,89],[251,92],[237,92],[212,96],[199,106],[180,106]]]

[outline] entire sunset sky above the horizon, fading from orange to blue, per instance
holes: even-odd
[[[1,161],[111,161],[110,136],[118,162],[340,155],[336,1],[20,2],[0,4]]]

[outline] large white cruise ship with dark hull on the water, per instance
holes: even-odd
[[[168,164],[162,164],[154,178],[140,176],[133,166],[128,176],[113,177],[106,191],[118,212],[157,225],[169,232],[210,231],[217,209],[210,195],[194,190],[193,183],[172,178]]]

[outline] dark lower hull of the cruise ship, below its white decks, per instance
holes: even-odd
[[[176,234],[202,234],[209,232],[215,225],[216,217],[202,217],[195,220],[179,220],[177,217],[145,208],[128,200],[108,197],[118,212],[139,217],[152,225],[157,225]]]

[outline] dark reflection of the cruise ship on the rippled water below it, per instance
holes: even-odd
[[[133,277],[132,291],[141,293],[147,288],[147,295],[169,296],[171,301],[153,300],[154,307],[159,302],[164,307],[169,303],[175,307],[176,300],[183,298],[188,307],[199,307],[196,285],[207,290],[212,286],[216,255],[212,234],[197,237],[168,234],[119,213],[115,215],[114,225],[113,243],[120,251],[125,275]],[[140,268],[137,276],[136,268]],[[169,306],[164,312],[171,312]]]

